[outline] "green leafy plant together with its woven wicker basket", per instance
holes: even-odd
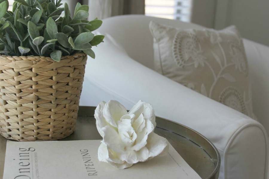
[[[0,0],[0,133],[17,141],[57,140],[74,132],[87,55],[103,42],[101,20],[73,18],[61,0]],[[61,14],[64,13],[64,16]]]

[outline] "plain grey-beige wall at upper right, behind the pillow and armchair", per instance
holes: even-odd
[[[196,24],[236,25],[242,37],[269,46],[269,0],[193,0],[192,12]]]

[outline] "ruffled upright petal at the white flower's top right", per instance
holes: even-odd
[[[144,113],[144,118],[149,119],[155,128],[155,114],[151,104],[140,100],[132,107],[132,109],[130,109],[128,114],[135,114],[135,116],[140,116],[142,112]]]

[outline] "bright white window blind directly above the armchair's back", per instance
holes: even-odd
[[[190,22],[192,0],[145,0],[145,15]]]

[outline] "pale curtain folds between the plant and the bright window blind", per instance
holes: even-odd
[[[145,14],[145,0],[83,0],[89,5],[89,19],[123,14]]]

